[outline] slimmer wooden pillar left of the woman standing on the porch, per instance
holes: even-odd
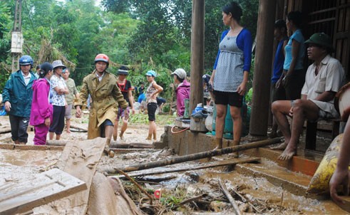
[[[192,1],[190,113],[203,103],[205,0]]]

